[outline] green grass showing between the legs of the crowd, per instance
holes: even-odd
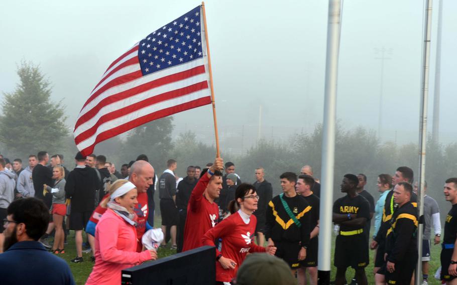
[[[160,225],[160,218],[156,219],[155,224]],[[334,250],[334,238],[332,242],[332,252]],[[432,245],[431,246],[431,261],[430,261],[430,272],[429,272],[429,279],[428,283],[431,285],[438,285],[441,284],[440,281],[436,280],[433,275],[435,274],[436,269],[439,267],[439,253],[441,251],[441,247],[439,245]],[[169,255],[176,253],[176,250],[172,250],[169,248],[159,248],[158,255],[159,258],[163,258]],[[58,256],[64,258],[67,263],[70,265],[71,272],[73,273],[75,282],[77,285],[84,284],[87,277],[89,276],[92,266],[94,263],[90,261],[90,253],[83,253],[84,262],[82,263],[72,263],[70,262],[76,256],[76,248],[74,244],[74,233],[73,231],[70,232],[68,236],[68,245],[65,246],[65,253],[58,254]],[[332,264],[333,264],[333,256],[331,257]],[[368,277],[368,283],[374,284],[374,276],[373,276],[373,260],[374,260],[374,251],[370,250],[370,265],[367,266],[366,272]],[[334,279],[336,273],[336,268],[332,268],[331,270],[331,279]],[[354,270],[352,268],[348,268],[347,271],[347,280],[350,281],[354,276]]]

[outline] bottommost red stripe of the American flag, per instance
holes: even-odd
[[[152,121],[155,119],[160,119],[160,118],[172,115],[177,112],[182,112],[182,111],[189,110],[192,108],[197,108],[197,107],[200,107],[203,105],[207,105],[209,103],[211,103],[211,98],[209,96],[207,96],[207,97],[199,98],[199,99],[187,102],[187,103],[183,103],[181,105],[162,109],[157,112],[145,115],[143,117],[139,117],[135,120],[126,122],[122,125],[119,125],[117,127],[114,127],[114,128],[111,128],[111,129],[108,129],[108,130],[105,130],[105,131],[99,133],[91,145],[86,145],[86,144],[81,145],[81,146],[78,145],[78,149],[81,150],[81,153],[91,154],[91,153],[93,153],[93,149],[94,149],[95,145],[100,143],[100,141],[103,141],[103,140],[106,140],[113,136],[119,135],[123,132],[126,132],[132,128],[140,126],[149,121]],[[81,148],[84,148],[84,149],[81,149]]]

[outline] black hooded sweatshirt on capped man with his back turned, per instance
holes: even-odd
[[[71,199],[72,212],[92,212],[95,190],[99,188],[97,173],[90,167],[77,166],[68,174],[65,198]]]

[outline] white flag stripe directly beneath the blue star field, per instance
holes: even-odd
[[[148,83],[150,81],[159,79],[161,77],[165,77],[165,76],[168,76],[168,75],[171,75],[171,74],[174,74],[174,73],[185,71],[185,70],[188,70],[188,69],[191,69],[191,68],[203,65],[203,64],[205,64],[205,60],[204,59],[194,60],[194,61],[189,62],[187,64],[178,65],[178,66],[175,66],[175,67],[172,67],[172,68],[168,68],[168,69],[165,69],[165,70],[163,70],[161,72],[156,72],[156,73],[150,74],[148,76],[143,76],[141,78],[138,78],[137,80],[130,81],[130,82],[121,84],[119,86],[110,88],[109,90],[106,90],[102,94],[98,95],[95,99],[93,99],[91,102],[89,102],[89,104],[84,106],[82,108],[81,112],[79,113],[79,116],[83,115],[84,113],[86,113],[87,111],[92,109],[101,100],[103,100],[104,98],[106,98],[108,96],[111,96],[113,94],[117,94],[117,93],[120,93],[120,92],[123,92],[123,91],[128,91],[128,90],[130,90],[130,89],[132,89],[132,88],[134,88],[136,86],[139,86],[141,84]]]

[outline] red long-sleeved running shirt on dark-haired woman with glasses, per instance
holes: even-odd
[[[254,243],[256,225],[256,216],[251,215],[249,224],[245,224],[237,212],[204,234],[203,245],[214,246],[214,240],[222,238],[222,252],[216,248],[216,256],[222,254],[223,257],[230,258],[237,263],[235,269],[224,269],[220,262],[216,261],[216,281],[232,281],[248,252],[265,252],[265,247]]]

